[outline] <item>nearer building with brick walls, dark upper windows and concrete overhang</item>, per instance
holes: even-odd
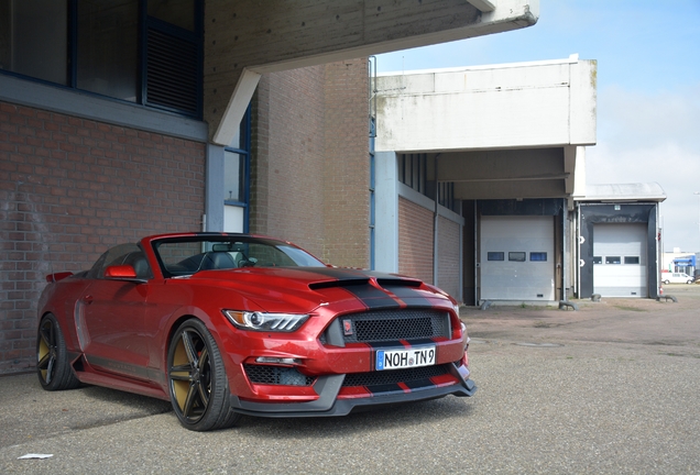
[[[371,266],[364,58],[538,14],[537,0],[0,0],[0,373],[34,364],[46,274],[144,234],[243,230]]]

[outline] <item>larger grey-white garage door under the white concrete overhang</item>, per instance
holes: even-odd
[[[555,300],[554,217],[481,218],[481,300]]]

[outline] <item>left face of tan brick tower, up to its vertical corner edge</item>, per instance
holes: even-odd
[[[253,103],[250,230],[321,257],[324,67],[264,75]]]

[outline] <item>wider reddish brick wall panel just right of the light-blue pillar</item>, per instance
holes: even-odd
[[[433,211],[398,198],[398,273],[433,284]]]

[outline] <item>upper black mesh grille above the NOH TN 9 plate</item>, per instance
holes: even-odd
[[[321,335],[321,343],[369,343],[450,338],[446,311],[433,309],[376,310],[338,317]]]

